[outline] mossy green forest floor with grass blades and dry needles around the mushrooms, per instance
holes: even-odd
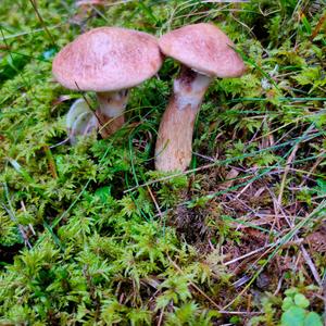
[[[1,0],[0,325],[322,325],[325,1]],[[154,171],[179,64],[109,139],[66,139],[55,53],[98,26],[212,22],[246,62],[215,79],[185,173]]]

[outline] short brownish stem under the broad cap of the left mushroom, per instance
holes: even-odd
[[[128,90],[106,91],[97,93],[99,109],[96,115],[100,123],[100,134],[103,138],[120,129],[124,122],[124,111],[128,101]]]

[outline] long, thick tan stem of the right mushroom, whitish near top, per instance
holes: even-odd
[[[181,67],[180,75],[174,80],[174,93],[159,128],[156,170],[185,171],[190,164],[193,124],[211,82],[210,76]]]

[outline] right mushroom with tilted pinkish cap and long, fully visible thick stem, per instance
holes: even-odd
[[[214,77],[238,77],[244,64],[233,41],[213,24],[193,24],[159,40],[161,51],[181,63],[174,93],[160,124],[155,147],[159,171],[185,171],[191,161],[195,118]]]

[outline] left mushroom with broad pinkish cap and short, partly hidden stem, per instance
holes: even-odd
[[[54,58],[52,72],[64,87],[96,91],[96,115],[103,138],[124,124],[128,89],[161,67],[156,38],[121,27],[93,28],[66,45]]]

